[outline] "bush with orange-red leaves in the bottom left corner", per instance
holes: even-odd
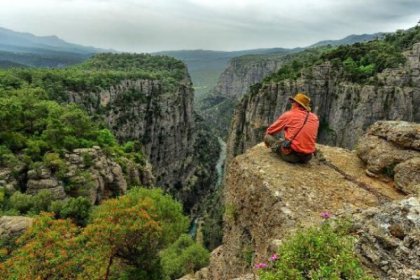
[[[0,264],[0,279],[76,279],[79,229],[69,220],[41,214],[18,240],[18,249]]]

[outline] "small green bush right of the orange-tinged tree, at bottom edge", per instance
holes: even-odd
[[[209,263],[209,252],[195,243],[187,234],[160,253],[164,279],[178,279],[205,267]]]

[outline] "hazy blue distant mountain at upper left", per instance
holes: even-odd
[[[0,67],[64,67],[95,53],[110,52],[66,42],[57,36],[36,36],[0,27]],[[12,65],[12,66],[11,66]]]

